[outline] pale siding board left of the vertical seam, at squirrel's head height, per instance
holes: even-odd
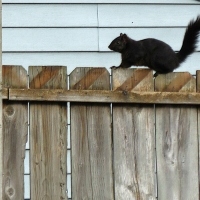
[[[3,28],[3,51],[98,51],[96,28]]]

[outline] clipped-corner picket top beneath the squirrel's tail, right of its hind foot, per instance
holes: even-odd
[[[196,79],[188,72],[159,74],[155,79],[155,91],[195,92]]]

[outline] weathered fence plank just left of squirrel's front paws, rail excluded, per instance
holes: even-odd
[[[105,68],[76,68],[70,89],[109,90]],[[71,103],[72,199],[113,200],[109,104]]]

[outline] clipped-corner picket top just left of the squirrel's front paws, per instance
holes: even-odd
[[[109,90],[110,75],[103,67],[77,67],[69,77],[69,87],[74,90]]]

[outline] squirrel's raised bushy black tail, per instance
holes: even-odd
[[[177,53],[179,63],[185,61],[185,59],[195,51],[196,44],[198,42],[198,36],[200,34],[200,15],[194,21],[190,21],[185,31],[183,44],[180,51]]]

